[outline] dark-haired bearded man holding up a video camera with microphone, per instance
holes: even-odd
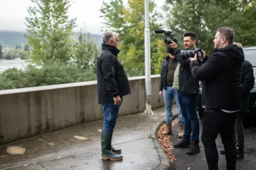
[[[193,32],[185,32],[183,33],[183,37],[185,47],[184,51],[186,52],[187,50],[195,50],[197,35]],[[187,154],[192,155],[200,152],[199,120],[196,113],[196,101],[197,95],[199,93],[199,84],[191,74],[190,60],[188,59],[189,57],[184,57],[184,51],[181,51],[181,49],[177,47],[177,44],[174,41],[171,42],[172,43],[168,44],[167,46],[174,49],[174,55],[180,63],[180,69],[176,70],[179,72],[178,100],[180,103],[181,113],[184,117],[183,140],[177,144],[174,144],[173,147],[190,147],[190,149],[187,151]],[[198,62],[200,62],[200,60],[198,60]]]

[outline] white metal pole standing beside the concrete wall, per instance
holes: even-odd
[[[149,10],[148,0],[145,0],[145,31],[144,31],[144,44],[145,44],[145,87],[146,87],[146,108],[143,115],[155,115],[151,110],[151,66],[150,66],[150,28],[149,28]]]

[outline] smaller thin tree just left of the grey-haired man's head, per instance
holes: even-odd
[[[78,42],[75,44],[74,63],[77,67],[88,69],[96,73],[96,61],[100,52],[94,39],[89,33],[81,31],[78,33]]]

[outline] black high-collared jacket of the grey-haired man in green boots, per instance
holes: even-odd
[[[99,104],[112,101],[113,97],[123,97],[131,93],[127,74],[117,59],[119,52],[114,46],[102,44],[101,53],[97,57]]]

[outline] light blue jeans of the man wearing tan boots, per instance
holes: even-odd
[[[163,96],[164,96],[164,104],[165,104],[165,117],[166,117],[166,122],[172,123],[173,122],[173,98],[176,101],[176,106],[178,109],[178,124],[182,123],[184,124],[184,118],[181,114],[180,110],[180,104],[178,101],[178,90],[174,89],[171,86],[166,86],[166,90],[163,91]]]

